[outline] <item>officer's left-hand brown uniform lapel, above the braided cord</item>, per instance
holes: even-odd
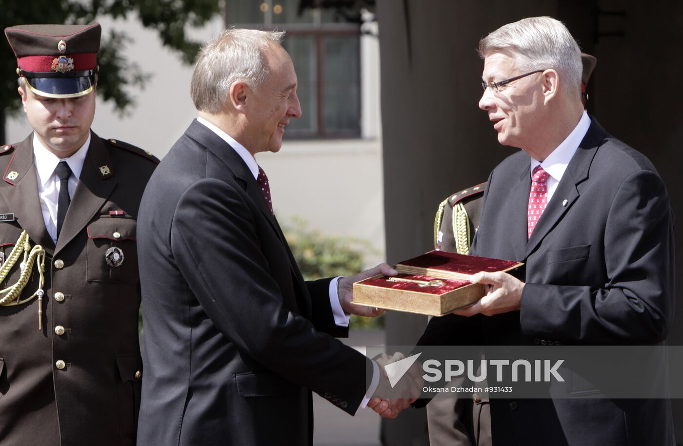
[[[33,133],[14,147],[14,153],[11,156],[12,160],[3,179],[12,186],[5,185],[0,188],[0,196],[6,205],[3,211],[14,213],[16,222],[26,231],[31,240],[52,255],[55,243],[45,227],[38,198],[38,176],[36,166],[33,164]]]

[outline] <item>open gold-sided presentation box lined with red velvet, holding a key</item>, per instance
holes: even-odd
[[[516,261],[430,251],[396,265],[398,276],[382,274],[353,284],[353,302],[410,313],[443,316],[481,299],[484,285],[469,278],[479,271],[510,271]]]

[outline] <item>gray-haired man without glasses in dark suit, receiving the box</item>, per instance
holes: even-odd
[[[384,376],[330,335],[346,334],[352,312],[380,312],[350,303],[352,282],[395,271],[304,282],[254,158],[279,151],[301,115],[282,37],[229,29],[204,46],[191,84],[199,118],[145,190],[141,445],[310,444],[311,390],[353,415],[370,376]],[[389,403],[372,406],[407,406]]]

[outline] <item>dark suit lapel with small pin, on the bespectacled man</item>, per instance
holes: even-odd
[[[576,149],[576,153],[572,156],[572,160],[570,160],[567,170],[565,170],[561,181],[557,185],[557,189],[553,192],[553,199],[548,203],[548,207],[543,211],[543,215],[541,215],[538,224],[533,233],[531,233],[524,259],[531,255],[539,243],[557,225],[563,215],[569,211],[576,198],[579,198],[577,186],[588,178],[588,170],[604,138],[604,134],[604,129],[600,127],[597,121],[593,120],[588,132],[583,137],[583,140],[581,140],[579,148]]]

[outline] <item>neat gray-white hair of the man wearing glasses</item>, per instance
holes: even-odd
[[[552,17],[522,18],[503,25],[479,41],[482,59],[510,50],[522,72],[553,68],[566,76],[566,91],[581,98],[581,49],[566,26]]]

